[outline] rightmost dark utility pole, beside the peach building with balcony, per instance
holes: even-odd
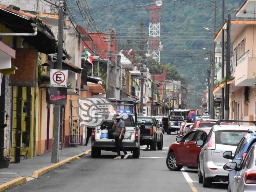
[[[229,65],[230,65],[230,19],[231,16],[228,14],[227,20],[227,61],[226,61],[226,93],[225,93],[225,116],[224,118],[229,119]]]

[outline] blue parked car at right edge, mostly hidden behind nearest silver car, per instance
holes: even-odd
[[[225,151],[223,153],[223,157],[227,159],[241,159],[242,162],[246,158],[246,154],[249,148],[256,142],[256,133],[251,130],[247,133],[237,145],[234,156],[232,155],[232,151]],[[238,165],[239,167],[239,165]],[[228,183],[233,183],[234,177],[237,175],[238,171],[229,171],[228,172]],[[230,185],[228,186],[231,189]]]

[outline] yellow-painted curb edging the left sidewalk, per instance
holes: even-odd
[[[62,160],[62,161],[60,161],[58,163],[55,163],[53,165],[49,165],[49,166],[46,166],[44,168],[38,169],[38,170],[33,172],[31,177],[17,177],[17,178],[15,178],[13,180],[10,180],[10,181],[0,185],[0,192],[8,190],[8,189],[13,188],[13,187],[18,186],[18,185],[21,185],[23,183],[27,183],[30,180],[37,179],[39,176],[41,176],[41,175],[43,175],[43,174],[45,174],[45,173],[47,173],[47,172],[49,172],[51,170],[54,170],[54,169],[58,168],[59,166],[64,165],[67,162],[73,161],[77,157],[81,157],[83,155],[91,153],[91,151],[92,150],[87,150],[87,151],[82,152],[82,153],[80,153],[78,155],[75,155],[73,157],[69,157],[67,159],[64,159],[64,160]]]

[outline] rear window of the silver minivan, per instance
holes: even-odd
[[[216,144],[237,146],[247,130],[219,130],[215,131]]]

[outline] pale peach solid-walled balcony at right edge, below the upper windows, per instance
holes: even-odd
[[[237,60],[235,67],[235,86],[253,86],[256,79],[253,73],[256,71],[256,50],[248,50]]]

